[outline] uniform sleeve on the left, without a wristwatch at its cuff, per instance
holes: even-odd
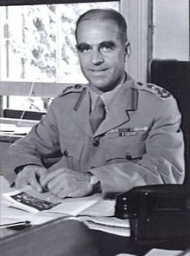
[[[43,166],[43,158],[59,151],[59,131],[54,113],[52,103],[48,114],[42,117],[28,135],[13,143],[5,152],[2,170],[10,184],[16,179],[16,167],[29,164]]]

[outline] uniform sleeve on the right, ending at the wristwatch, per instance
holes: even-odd
[[[100,181],[104,196],[136,186],[182,183],[185,167],[180,121],[174,97],[164,99],[156,110],[142,159],[93,168],[91,172]]]

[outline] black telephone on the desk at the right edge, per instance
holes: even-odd
[[[118,194],[115,216],[130,220],[130,237],[157,243],[190,238],[190,184],[134,187]]]

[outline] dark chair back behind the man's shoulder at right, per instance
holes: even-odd
[[[167,89],[178,102],[185,138],[185,182],[190,183],[190,62],[154,59],[149,65],[149,82]]]

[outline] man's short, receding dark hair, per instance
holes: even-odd
[[[124,17],[117,11],[112,9],[92,9],[88,10],[79,16],[79,19],[76,23],[75,37],[77,40],[77,30],[79,23],[85,20],[105,20],[109,19],[114,21],[117,24],[117,27],[120,32],[122,43],[127,42],[127,23]]]

